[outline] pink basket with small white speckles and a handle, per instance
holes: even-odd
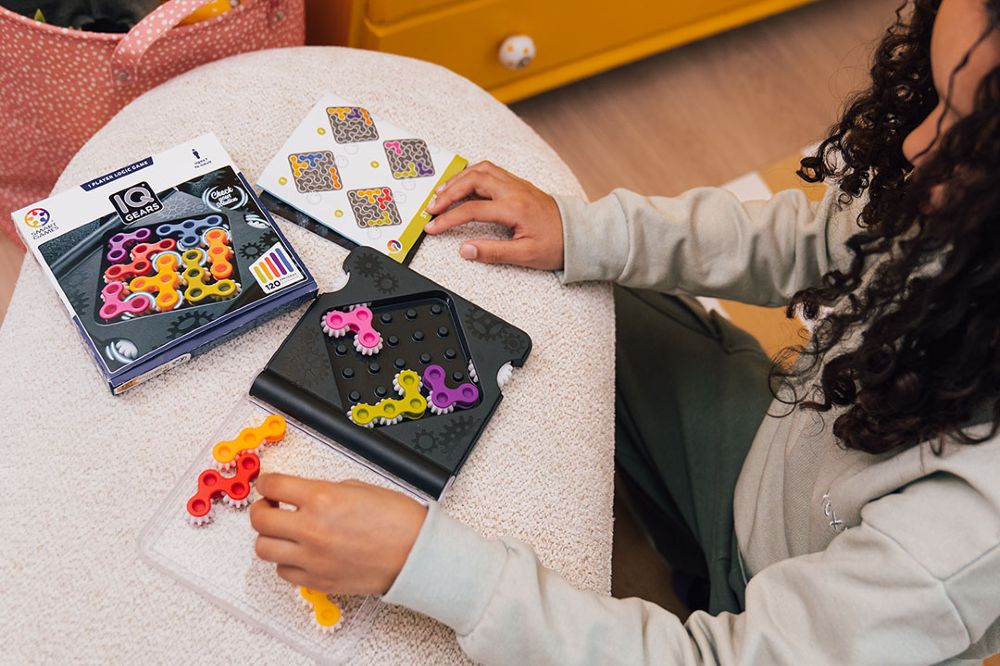
[[[170,0],[127,34],[68,30],[0,7],[0,229],[45,197],[77,150],[150,88],[203,63],[305,41],[304,0],[242,0],[177,27],[212,0]]]

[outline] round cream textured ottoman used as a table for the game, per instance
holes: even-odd
[[[490,159],[550,192],[582,194],[559,157],[469,81],[415,60],[336,48],[247,54],[168,82],[91,139],[56,190],[207,131],[253,181],[326,91],[471,161]],[[346,252],[290,223],[281,227],[320,291],[329,289]],[[498,233],[471,225],[427,238],[412,263],[534,341],[443,506],[485,535],[533,544],[546,565],[575,585],[607,593],[611,290],[560,287],[550,273],[458,256],[464,238]],[[154,507],[301,312],[114,398],[37,264],[25,261],[0,329],[0,661],[304,661],[147,566],[136,548]],[[462,659],[449,629],[396,607],[382,610],[356,657],[407,664]]]

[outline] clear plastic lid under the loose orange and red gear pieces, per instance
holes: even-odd
[[[257,557],[256,532],[245,508],[233,509],[217,501],[212,522],[201,526],[188,522],[186,504],[197,490],[198,476],[215,467],[215,443],[234,439],[243,428],[260,425],[270,414],[249,399],[237,404],[143,528],[139,551],[155,567],[303,654],[320,663],[344,663],[354,655],[381,607],[377,597],[329,597],[340,606],[342,616],[338,628],[324,632],[298,588],[279,578],[274,564]],[[291,421],[282,441],[262,445],[257,453],[262,472],[330,481],[359,479],[420,499]],[[256,499],[256,492],[251,499]]]

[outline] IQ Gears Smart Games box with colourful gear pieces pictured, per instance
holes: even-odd
[[[114,393],[316,293],[211,134],[12,217]]]

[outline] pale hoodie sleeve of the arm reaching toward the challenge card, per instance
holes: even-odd
[[[627,190],[586,203],[556,197],[563,220],[564,283],[627,287],[783,305],[824,273],[850,263],[845,241],[860,231],[859,202],[830,188],[821,202],[799,190],[741,202],[703,187],[679,197]]]

